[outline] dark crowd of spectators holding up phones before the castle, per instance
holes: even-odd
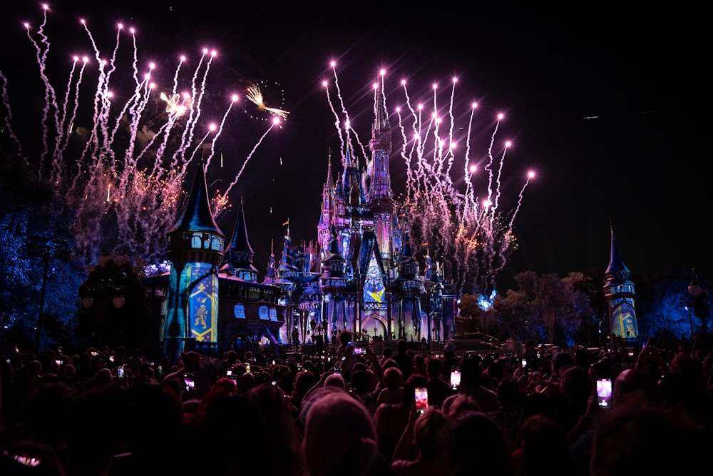
[[[399,340],[376,355],[339,340],[334,355],[176,363],[123,348],[4,356],[0,474],[630,476],[707,463],[713,352],[481,355]]]

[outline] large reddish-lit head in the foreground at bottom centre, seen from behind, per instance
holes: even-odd
[[[301,452],[310,476],[365,475],[379,452],[374,420],[348,393],[321,393],[308,407]]]

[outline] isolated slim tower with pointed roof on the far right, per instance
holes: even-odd
[[[610,250],[609,267],[606,270],[604,296],[609,304],[609,329],[612,337],[610,345],[635,345],[639,339],[639,329],[636,322],[634,299],[636,296],[634,283],[629,280],[629,268],[626,267],[617,248],[612,229],[612,246]]]

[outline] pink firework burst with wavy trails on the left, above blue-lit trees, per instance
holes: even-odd
[[[110,253],[160,262],[165,231],[173,226],[185,198],[185,173],[199,153],[205,167],[210,167],[215,143],[238,98],[234,95],[226,101],[220,123],[209,124],[203,109],[208,106],[207,79],[217,51],[199,50],[193,70],[188,69],[188,56],[177,58],[175,70],[142,65],[133,28],[118,24],[105,55],[88,22],[79,23],[93,59],[74,57],[63,93],[48,66],[52,45],[46,31],[47,8],[39,29],[24,24],[43,86],[41,150],[27,153],[12,131],[9,81],[0,71],[6,129],[17,153],[26,156],[24,160],[40,178],[56,186],[77,211],[73,231],[78,253],[90,262]],[[237,177],[231,187],[236,182]],[[229,207],[229,191],[230,187],[212,199],[216,217]]]

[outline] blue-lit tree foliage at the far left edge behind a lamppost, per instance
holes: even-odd
[[[0,177],[0,325],[5,340],[24,349],[34,347],[42,305],[40,346],[58,345],[71,338],[83,262],[51,251],[45,273],[45,260],[28,255],[27,245],[34,241],[53,249],[66,243],[71,248],[72,213],[61,196],[26,171],[20,158],[0,156]]]

